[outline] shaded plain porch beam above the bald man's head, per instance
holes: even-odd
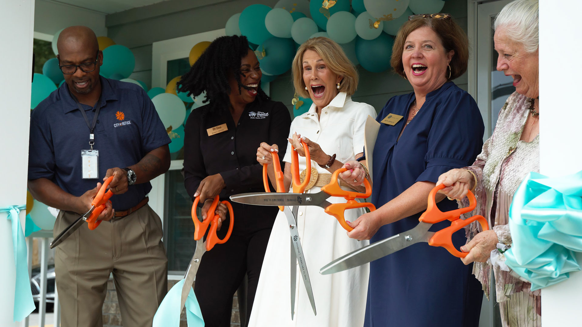
[[[57,31],[65,27],[75,25],[89,27],[98,37],[107,36],[104,13],[67,5],[65,3],[36,0],[34,31],[54,35]]]

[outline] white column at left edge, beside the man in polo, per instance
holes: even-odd
[[[0,207],[26,204],[33,29],[34,0],[0,1]],[[17,326],[12,227],[6,214],[0,214],[0,262],[0,326]]]

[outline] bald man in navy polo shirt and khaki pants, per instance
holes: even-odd
[[[84,224],[56,247],[61,324],[102,326],[113,273],[123,326],[151,326],[168,260],[161,221],[145,196],[149,181],[169,168],[170,139],[141,87],[99,75],[103,54],[92,30],[68,27],[57,46],[65,83],[31,115],[30,193],[61,209],[54,235],[88,211],[109,176],[115,194],[97,229]]]

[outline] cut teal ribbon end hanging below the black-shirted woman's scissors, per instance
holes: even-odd
[[[154,315],[154,324],[152,327],[166,327],[180,325],[180,301],[182,300],[182,286],[184,279],[174,285],[164,297],[162,304],[159,305],[158,311]],[[30,288],[30,287],[29,287]],[[204,327],[204,319],[200,311],[200,305],[194,295],[194,290],[190,287],[190,293],[186,299],[186,321],[188,327]]]

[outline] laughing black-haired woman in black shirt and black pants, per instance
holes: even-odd
[[[203,218],[217,194],[228,200],[232,194],[264,191],[257,147],[265,140],[286,147],[291,118],[285,105],[261,90],[261,69],[247,38],[217,38],[178,84],[189,95],[206,91],[210,101],[192,111],[184,128],[184,186],[192,199],[200,196]],[[236,223],[230,239],[204,253],[196,273],[194,293],[210,327],[230,326],[232,297],[245,273],[250,317],[278,210],[236,202],[232,206]],[[222,204],[217,208],[221,222],[228,218],[226,212]],[[221,239],[226,230],[219,231]]]

